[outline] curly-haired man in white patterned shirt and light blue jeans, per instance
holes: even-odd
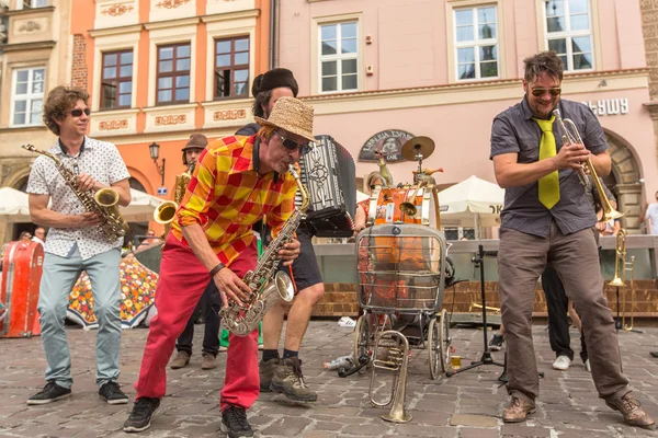
[[[78,174],[81,191],[112,187],[118,194],[118,204],[127,206],[131,175],[116,147],[84,136],[90,116],[88,102],[89,94],[81,89],[57,87],[50,91],[44,105],[44,123],[59,139],[48,152]],[[49,157],[39,155],[34,161],[27,193],[32,221],[50,229],[38,300],[47,384],[27,404],[50,403],[71,394],[73,379],[64,320],[69,292],[82,269],[91,279],[94,313],[99,319],[95,379],[99,395],[109,404],[127,403],[128,397],[116,383],[123,238],[109,242],[102,237],[98,228],[103,222],[101,215],[86,211]],[[48,201],[52,201],[49,208]]]

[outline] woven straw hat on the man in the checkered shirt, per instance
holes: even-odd
[[[304,137],[308,141],[316,141],[313,136],[313,106],[295,97],[280,97],[270,118],[253,117],[260,126],[273,126],[285,129],[291,134]]]

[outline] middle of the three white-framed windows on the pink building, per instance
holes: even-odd
[[[455,10],[457,79],[498,77],[496,7]]]

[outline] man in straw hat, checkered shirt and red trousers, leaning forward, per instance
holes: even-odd
[[[282,97],[268,120],[257,117],[257,122],[262,126],[257,136],[218,139],[198,158],[162,251],[158,315],[150,323],[136,401],[124,431],[150,426],[166,394],[167,361],[175,338],[208,281],[217,285],[225,308],[229,300],[247,300],[250,289],[241,278],[257,264],[252,224],[266,214],[276,235],[293,212],[297,185],[287,170],[314,140],[313,108]],[[296,240],[279,252],[287,265],[298,254]],[[222,428],[230,438],[250,437],[246,410],[259,394],[258,328],[229,341],[219,399]]]

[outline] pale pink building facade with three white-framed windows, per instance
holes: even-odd
[[[275,64],[294,71],[316,111],[316,134],[345,146],[359,177],[392,159],[396,184],[417,162],[401,145],[428,136],[423,162],[439,184],[469,175],[495,182],[494,117],[523,97],[522,61],[538,50],[563,58],[564,99],[598,115],[610,143],[606,178],[629,232],[658,188],[649,69],[639,0],[286,0]],[[646,187],[646,189],[645,189]]]

